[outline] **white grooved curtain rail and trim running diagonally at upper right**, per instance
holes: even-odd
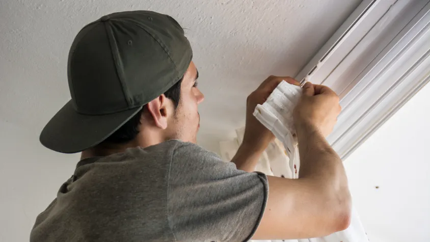
[[[363,1],[296,78],[341,97],[328,141],[346,159],[429,82],[430,1]]]

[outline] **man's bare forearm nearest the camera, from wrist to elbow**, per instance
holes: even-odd
[[[351,194],[342,160],[324,135],[314,126],[296,126],[299,139],[299,180],[311,188],[314,206],[335,231],[351,221]],[[329,226],[330,227],[330,226]]]

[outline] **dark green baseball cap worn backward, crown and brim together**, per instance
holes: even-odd
[[[177,83],[192,58],[183,29],[168,15],[118,12],[86,25],[69,52],[72,99],[43,128],[40,142],[63,153],[101,143]]]

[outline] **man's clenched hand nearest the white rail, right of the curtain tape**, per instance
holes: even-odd
[[[294,109],[295,126],[312,126],[324,137],[330,135],[340,114],[339,96],[330,88],[306,83],[303,95]]]

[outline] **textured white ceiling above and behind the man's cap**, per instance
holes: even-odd
[[[199,143],[217,151],[245,124],[245,100],[270,75],[294,76],[359,0],[0,2],[0,119],[29,132],[69,98],[66,63],[77,32],[102,15],[152,10],[186,29],[205,94]]]

